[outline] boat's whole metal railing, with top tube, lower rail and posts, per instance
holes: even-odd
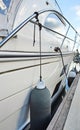
[[[38,17],[40,14],[46,13],[46,12],[52,12],[52,13],[54,13],[54,14],[60,19],[60,21],[61,21],[63,24],[65,24],[65,22],[66,22],[66,23],[69,25],[69,27],[68,27],[68,29],[67,29],[65,35],[63,35],[63,34],[57,32],[57,31],[54,31],[54,30],[52,30],[52,29],[50,29],[50,28],[48,28],[48,27],[46,27],[46,26],[44,26],[44,25],[42,25],[42,27],[63,37],[61,47],[62,47],[62,45],[63,45],[63,43],[64,43],[64,41],[65,41],[66,38],[69,39],[70,41],[73,41],[73,42],[74,42],[74,46],[75,46],[75,43],[76,43],[75,38],[76,38],[77,36],[80,37],[80,35],[79,35],[79,33],[75,30],[75,28],[70,24],[70,22],[69,22],[62,14],[60,14],[60,13],[59,13],[58,11],[56,11],[56,10],[41,10],[41,11],[39,11],[39,12],[34,12],[30,17],[28,17],[28,18],[27,18],[26,20],[24,20],[19,26],[17,26],[7,37],[5,37],[5,38],[0,42],[0,48],[1,48],[9,39],[11,39],[19,30],[21,30],[27,23],[32,22],[32,23],[34,24],[35,22],[33,22],[32,19],[34,19],[34,18]],[[36,23],[36,24],[37,24],[37,23]],[[67,37],[67,34],[68,34],[70,28],[72,28],[73,31],[75,32],[74,40],[71,39],[70,37]],[[76,35],[77,35],[77,36],[76,36]],[[73,48],[74,48],[74,47],[73,47]]]

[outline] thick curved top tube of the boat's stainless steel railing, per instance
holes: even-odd
[[[30,22],[33,18],[35,18],[37,15],[40,15],[42,13],[45,12],[53,12],[55,15],[58,16],[58,18],[65,24],[64,21],[66,21],[70,27],[75,31],[75,28],[70,24],[70,22],[62,15],[60,14],[58,11],[56,10],[41,10],[39,12],[35,12],[33,13],[30,17],[28,17],[26,20],[24,20],[18,27],[16,27],[6,38],[3,39],[3,41],[0,42],[0,47],[2,47],[10,38],[12,38],[21,28],[23,28],[28,22]],[[77,32],[77,35],[79,35],[79,33]],[[80,35],[79,35],[80,36]]]

